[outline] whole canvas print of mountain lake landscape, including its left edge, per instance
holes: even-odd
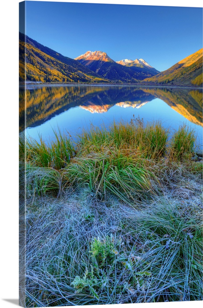
[[[19,3],[19,304],[202,300],[202,7]]]

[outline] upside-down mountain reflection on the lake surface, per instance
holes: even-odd
[[[195,124],[202,125],[202,91],[191,89],[146,87],[27,87],[20,89],[19,129],[35,127],[73,107],[91,113],[103,113],[114,105],[141,108],[152,99],[160,98],[171,108]]]

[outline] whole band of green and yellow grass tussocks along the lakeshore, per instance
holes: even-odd
[[[26,140],[25,144],[21,140],[20,160],[27,164],[29,181],[33,174],[36,179],[43,178],[31,180],[38,193],[50,191],[53,182],[53,190],[58,187],[58,193],[72,185],[88,186],[100,200],[113,193],[131,203],[137,198],[162,194],[163,173],[164,177],[170,173],[174,163],[186,165],[185,162],[191,161],[194,132],[183,125],[170,141],[168,136],[169,130],[160,122],[144,126],[143,119],[133,118],[127,124],[114,122],[109,129],[91,127],[75,142],[61,132],[58,135],[55,132],[55,140],[49,144],[42,139]],[[201,170],[197,164],[189,168],[191,172]],[[47,174],[51,174],[51,179]],[[56,174],[57,180],[53,179]],[[30,191],[30,186],[27,190]]]

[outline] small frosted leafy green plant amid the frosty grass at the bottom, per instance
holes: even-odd
[[[71,283],[78,293],[90,293],[98,299],[101,292],[114,296],[117,294],[133,294],[147,286],[151,273],[136,270],[136,258],[128,256],[127,247],[121,238],[106,236],[91,241],[91,264],[86,267],[83,277],[76,276]],[[126,278],[127,277],[127,278]]]

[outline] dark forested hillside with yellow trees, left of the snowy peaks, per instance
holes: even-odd
[[[43,83],[109,82],[78,61],[64,57],[22,33],[19,34],[19,80]]]

